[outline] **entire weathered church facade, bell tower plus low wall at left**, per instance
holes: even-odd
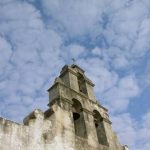
[[[48,110],[34,110],[23,124],[0,118],[0,150],[128,150],[93,87],[83,69],[65,65],[48,89]]]

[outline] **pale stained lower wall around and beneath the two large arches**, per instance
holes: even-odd
[[[98,143],[93,125],[86,120],[88,138],[75,135],[72,112],[53,105],[54,113],[45,116],[35,110],[25,118],[25,125],[0,119],[0,150],[122,150],[111,134],[109,147]]]

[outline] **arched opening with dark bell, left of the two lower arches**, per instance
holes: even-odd
[[[73,99],[72,113],[73,113],[75,135],[86,138],[87,133],[86,133],[84,115],[82,111],[82,105],[76,99]]]

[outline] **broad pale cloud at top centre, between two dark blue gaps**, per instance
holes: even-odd
[[[41,2],[45,14],[58,21],[70,36],[82,35],[91,30],[97,21],[99,11],[102,11],[99,8],[103,6],[102,1],[100,3],[97,0],[43,0]]]

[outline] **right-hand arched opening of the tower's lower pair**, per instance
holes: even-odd
[[[103,119],[97,110],[94,110],[93,113],[94,113],[94,125],[96,128],[98,142],[99,144],[107,146],[108,142],[107,142]]]

